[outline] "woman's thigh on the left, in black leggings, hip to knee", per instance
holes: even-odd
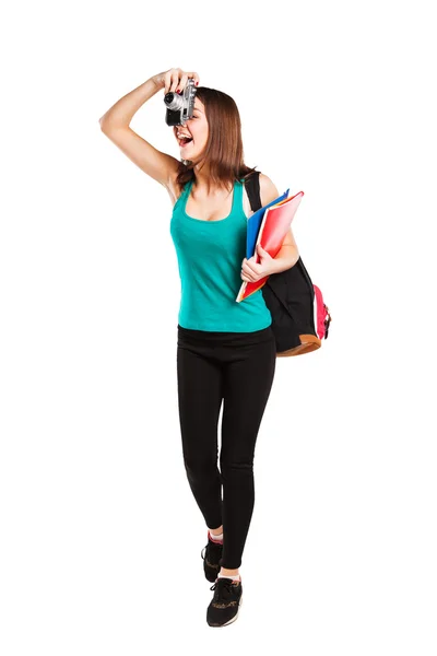
[[[222,367],[209,358],[208,348],[178,342],[177,379],[185,456],[197,460],[216,459]]]

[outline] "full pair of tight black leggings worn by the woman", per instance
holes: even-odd
[[[249,531],[255,504],[255,445],[275,366],[276,348],[270,326],[255,332],[210,332],[178,325],[184,462],[206,526],[218,528],[223,524],[220,565],[229,570],[240,566]]]

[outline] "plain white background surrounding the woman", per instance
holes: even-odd
[[[2,12],[4,656],[435,656],[430,2],[43,2]],[[245,161],[304,190],[332,315],[279,359],[244,605],[212,632],[182,465],[172,203],[99,117],[180,67],[229,94]],[[179,156],[160,92],[131,127]]]

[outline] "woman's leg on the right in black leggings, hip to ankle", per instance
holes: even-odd
[[[221,472],[224,573],[237,570],[255,505],[253,456],[276,366],[274,338],[240,347],[225,370]]]

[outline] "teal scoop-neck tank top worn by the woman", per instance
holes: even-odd
[[[182,328],[223,332],[252,332],[268,328],[272,316],[262,290],[236,302],[246,257],[247,216],[243,181],[234,183],[231,214],[203,221],[186,212],[192,180],[177,199],[170,221],[181,283],[178,321]]]

